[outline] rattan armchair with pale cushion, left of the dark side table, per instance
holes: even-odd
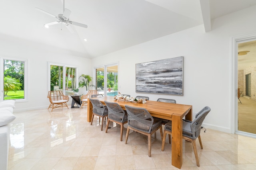
[[[52,110],[57,107],[68,107],[67,102],[69,100],[68,96],[65,96],[62,91],[49,91],[48,96],[50,101],[50,107],[52,107]]]

